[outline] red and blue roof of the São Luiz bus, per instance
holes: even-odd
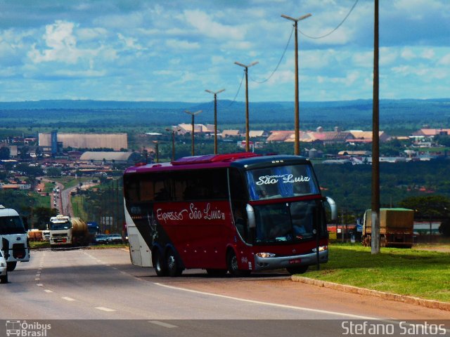
[[[186,169],[212,169],[220,167],[235,166],[245,169],[257,169],[267,164],[281,164],[293,162],[309,162],[305,157],[292,155],[270,155],[263,156],[252,152],[240,152],[231,154],[207,154],[203,156],[183,157],[170,163],[147,164],[143,166],[132,166],[125,170],[127,173],[144,173],[158,171],[179,171]]]

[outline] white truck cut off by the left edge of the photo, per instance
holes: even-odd
[[[18,261],[30,260],[27,229],[19,213],[0,205],[0,249],[8,265],[8,271],[15,269]]]

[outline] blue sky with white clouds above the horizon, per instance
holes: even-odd
[[[293,101],[281,15],[308,13],[300,101],[372,98],[373,0],[0,0],[0,101],[245,101],[236,61],[250,101]],[[380,98],[449,98],[449,75],[450,1],[380,0]]]

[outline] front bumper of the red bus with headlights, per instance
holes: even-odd
[[[273,270],[288,267],[298,267],[301,265],[316,265],[316,252],[295,256],[270,256],[271,253],[255,254],[255,270]],[[266,257],[268,256],[268,257]],[[322,251],[319,249],[319,262],[328,262],[328,247]]]

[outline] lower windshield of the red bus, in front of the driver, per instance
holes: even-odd
[[[326,233],[325,216],[320,201],[283,202],[254,206],[254,209],[256,244],[312,239],[316,230],[315,221],[319,223],[321,233]]]

